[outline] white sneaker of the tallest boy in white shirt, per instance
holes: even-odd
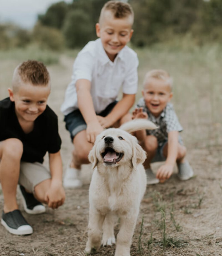
[[[68,167],[63,178],[64,188],[81,188],[80,169]]]

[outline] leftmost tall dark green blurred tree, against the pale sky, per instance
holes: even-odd
[[[68,9],[68,4],[64,1],[52,4],[45,14],[38,15],[38,20],[44,26],[61,29]]]

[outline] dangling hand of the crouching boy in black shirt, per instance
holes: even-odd
[[[64,204],[65,191],[61,181],[52,181],[49,190],[46,192],[45,201],[52,209],[56,209]]]

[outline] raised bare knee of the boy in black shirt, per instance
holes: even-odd
[[[2,157],[6,156],[8,159],[19,160],[23,153],[23,144],[19,139],[7,139],[3,143]]]

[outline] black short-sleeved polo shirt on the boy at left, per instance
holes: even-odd
[[[34,121],[34,129],[24,133],[15,113],[15,104],[9,97],[0,101],[0,141],[17,138],[23,144],[22,161],[43,163],[46,152],[60,150],[58,118],[47,105],[45,111]]]

